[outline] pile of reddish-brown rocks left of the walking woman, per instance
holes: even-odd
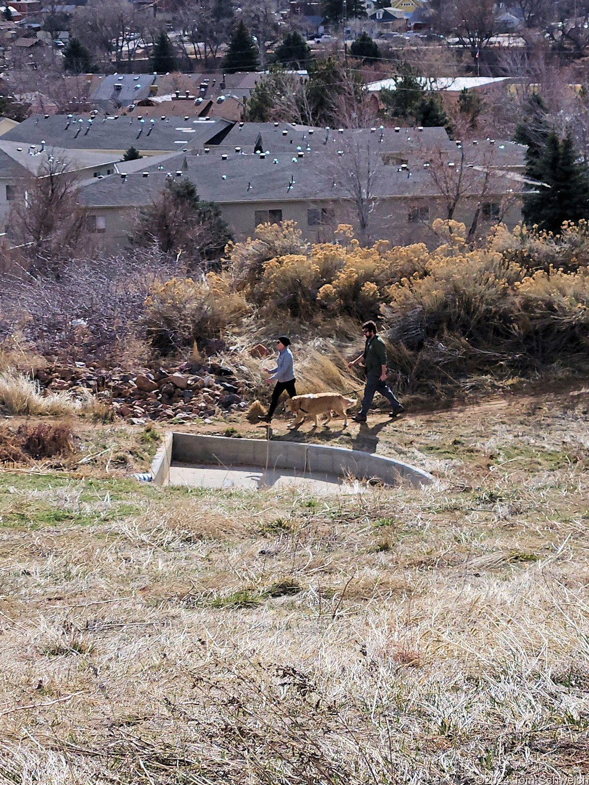
[[[122,368],[105,371],[85,363],[74,367],[53,364],[35,371],[35,378],[50,392],[90,389],[98,400],[111,403],[121,417],[152,420],[189,420],[243,410],[247,407],[243,396],[253,386],[214,362],[188,362],[157,371],[143,368],[138,374]]]

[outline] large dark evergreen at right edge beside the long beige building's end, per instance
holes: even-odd
[[[524,199],[524,221],[528,226],[557,234],[564,221],[589,218],[589,172],[577,160],[570,136],[560,141],[551,132],[540,156],[532,157],[526,175],[549,186]]]

